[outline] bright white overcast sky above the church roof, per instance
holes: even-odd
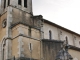
[[[80,34],[80,0],[33,0],[33,13]]]

